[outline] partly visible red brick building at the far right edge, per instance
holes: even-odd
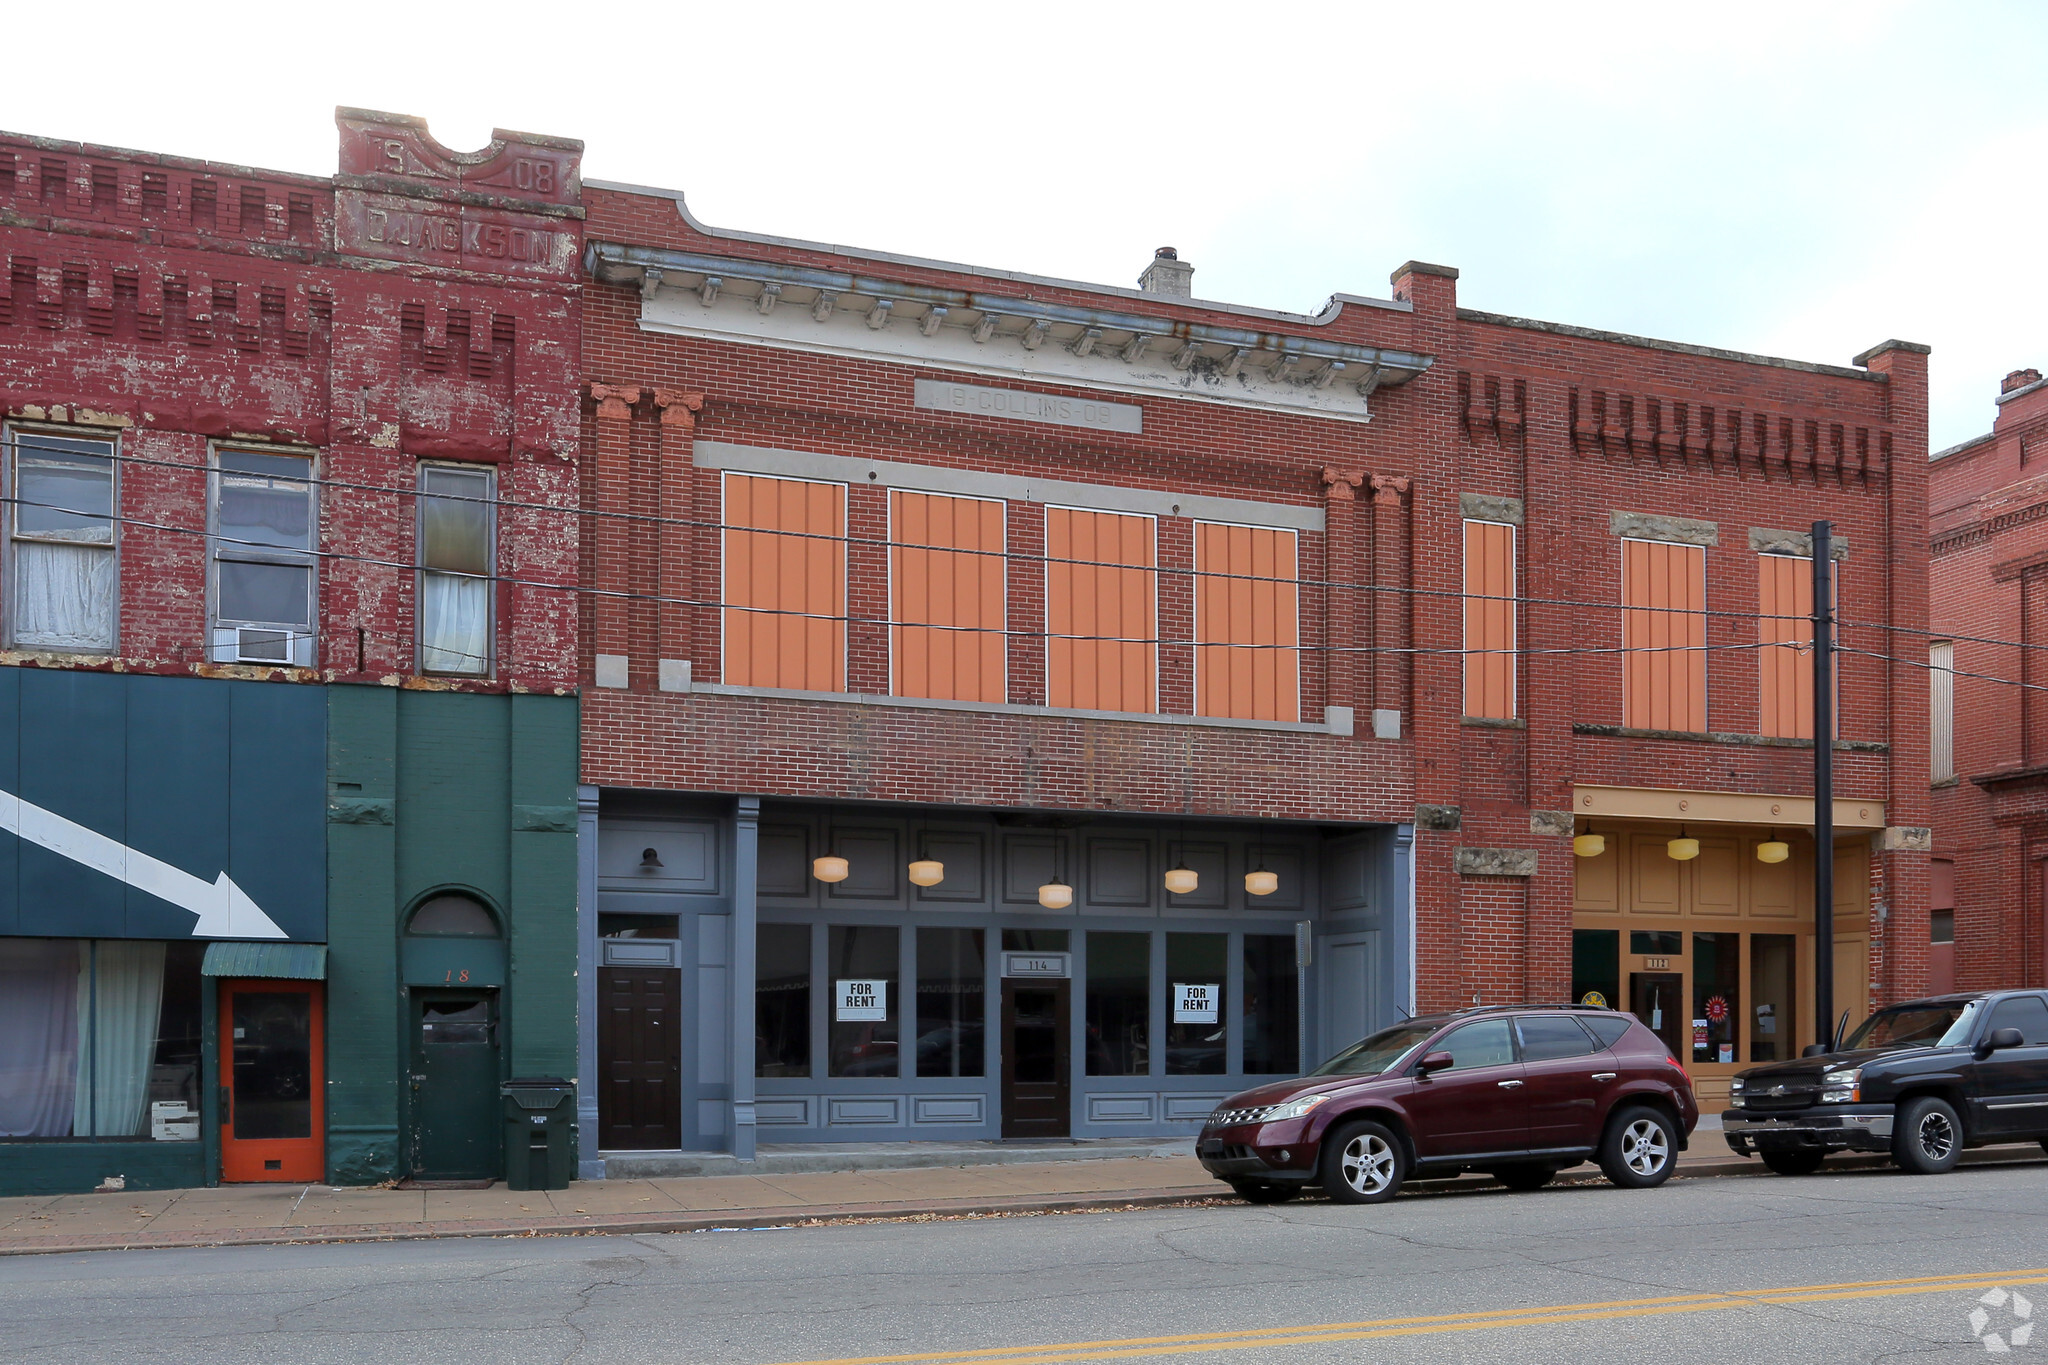
[[[1927,485],[1933,937],[1939,984],[1964,990],[2048,980],[2048,383],[2013,370],[1997,403]]]

